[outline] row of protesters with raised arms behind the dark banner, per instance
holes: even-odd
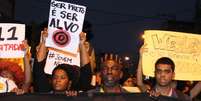
[[[2,92],[49,93],[78,96],[80,92],[87,93],[147,93],[150,96],[168,96],[182,101],[191,101],[201,91],[201,82],[194,85],[186,83],[178,89],[179,81],[175,81],[175,64],[168,57],[161,57],[155,63],[155,81],[145,80],[142,71],[142,54],[146,51],[144,44],[139,50],[139,63],[136,74],[126,75],[120,56],[109,53],[96,64],[95,53],[87,40],[87,33],[80,33],[79,53],[80,67],[69,64],[59,64],[51,75],[44,72],[48,47],[45,46],[48,36],[47,27],[41,31],[41,41],[36,47],[36,57],[31,67],[27,41],[23,41],[24,72],[18,64],[0,61],[0,80],[7,83],[7,89]],[[99,69],[96,67],[99,66]],[[133,67],[134,68],[134,67]]]

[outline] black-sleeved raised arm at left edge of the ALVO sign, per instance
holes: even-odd
[[[33,66],[33,86],[35,92],[49,92],[51,90],[48,76],[44,73],[46,55],[48,52],[45,46],[47,36],[47,28],[44,28],[44,30],[41,31],[41,42],[39,46],[37,46],[36,59]]]

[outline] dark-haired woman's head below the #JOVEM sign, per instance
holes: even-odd
[[[51,93],[68,94],[69,91],[76,95],[76,84],[79,78],[79,67],[68,64],[58,65],[52,72]],[[48,85],[48,84],[47,84]]]

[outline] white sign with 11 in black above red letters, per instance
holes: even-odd
[[[24,57],[25,25],[0,23],[0,58]]]

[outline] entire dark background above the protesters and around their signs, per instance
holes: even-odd
[[[200,0],[61,0],[87,7],[85,20],[92,24],[91,40],[97,56],[115,52],[138,62],[144,30],[160,29],[201,33]],[[36,46],[39,25],[48,20],[50,0],[0,0],[1,22],[27,26],[26,37]]]

